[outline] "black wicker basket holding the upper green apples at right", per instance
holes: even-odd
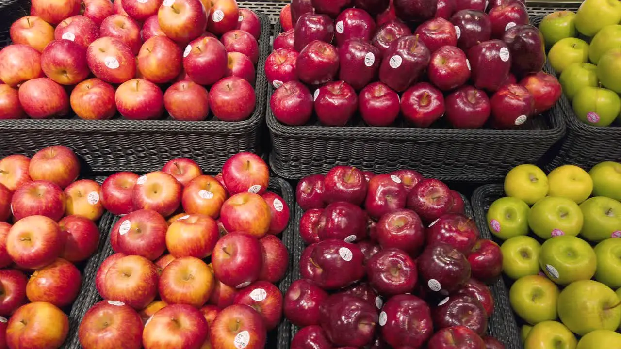
[[[530,23],[538,26],[543,15],[530,17]],[[546,61],[548,73],[553,73],[550,63]],[[619,161],[621,159],[621,123],[606,127],[584,124],[573,111],[571,102],[563,94],[558,102],[567,132],[558,145],[558,153],[546,166],[552,170],[561,165],[578,165],[589,169],[601,161]]]

